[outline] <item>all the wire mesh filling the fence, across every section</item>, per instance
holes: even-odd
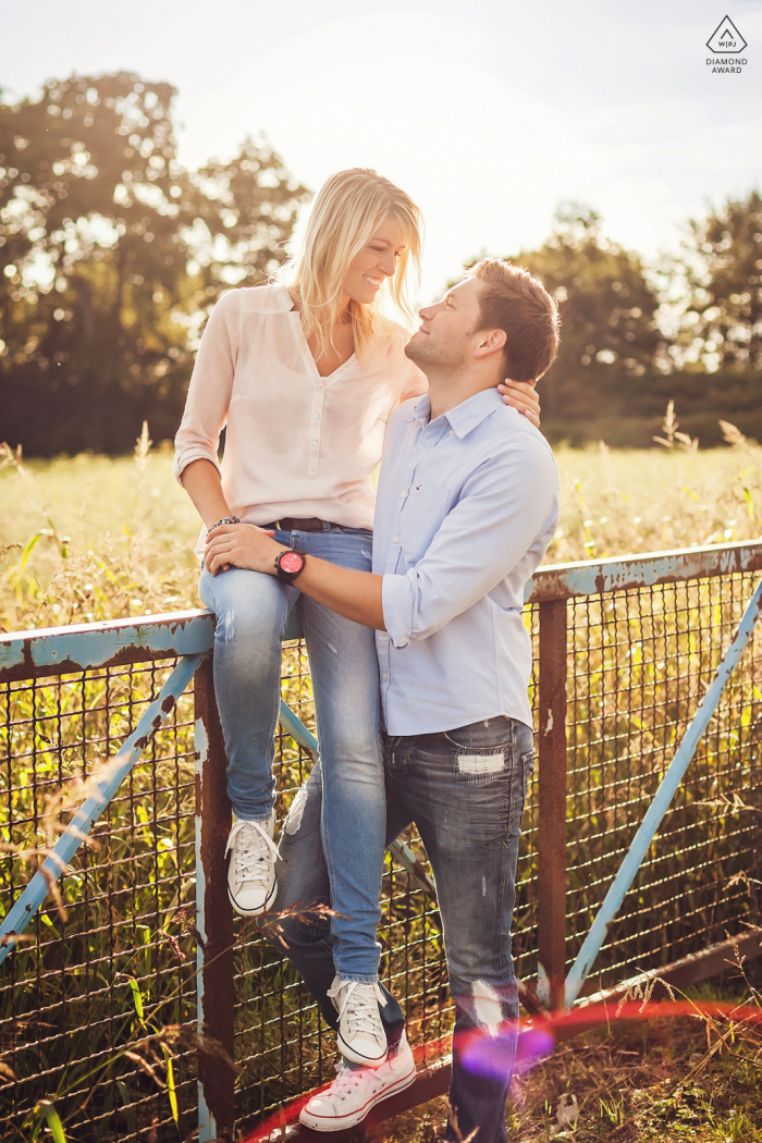
[[[755,560],[759,567],[762,547]],[[752,570],[689,569],[672,582],[576,592],[563,586],[571,573],[564,576],[553,581],[561,583],[554,597],[550,573],[538,573],[536,598],[568,597],[560,613],[568,655],[567,861],[560,871],[567,889],[559,921],[568,968],[756,577]],[[535,602],[526,613],[539,730],[543,606]],[[761,639],[756,632],[725,688],[608,934],[589,989],[616,985],[759,924]],[[67,820],[82,782],[129,734],[174,662],[2,684],[3,912],[29,877],[30,852],[49,844]],[[299,641],[284,647],[282,693],[314,728]],[[96,824],[94,844],[62,878],[61,902],[47,902],[27,929],[31,940],[0,968],[3,1138],[27,1137],[29,1125],[41,1121],[35,1108],[46,1098],[54,1101],[72,1141],[162,1143],[196,1130],[193,701],[191,688]],[[547,773],[542,734],[539,742],[513,925],[523,982],[536,977],[542,944],[538,791]],[[282,822],[313,759],[282,730],[275,745]],[[415,831],[408,844],[425,861]],[[235,1102],[238,1126],[246,1132],[330,1080],[336,1055],[314,1000],[256,921],[236,917],[233,934]],[[435,1056],[446,1050],[452,1021],[439,914],[391,858],[379,938],[383,978],[406,1009],[410,1040],[428,1045]]]

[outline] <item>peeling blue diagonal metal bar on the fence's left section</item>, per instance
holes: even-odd
[[[104,767],[103,775],[96,782],[93,792],[87,797],[72,818],[70,830],[62,833],[51,854],[46,857],[41,868],[6,913],[0,924],[0,938],[5,938],[2,944],[0,944],[0,964],[2,964],[15,946],[16,941],[14,938],[23,933],[48,896],[50,880],[58,880],[63,870],[69,865],[69,862],[82,845],[82,834],[90,832],[94,822],[101,817],[119,790],[119,786],[145,750],[153,734],[167,721],[177,700],[190,684],[196,668],[203,662],[204,657],[204,655],[187,655],[179,661],[161,688],[158,698],[151,703],[133,734],[130,734],[111,762]]]

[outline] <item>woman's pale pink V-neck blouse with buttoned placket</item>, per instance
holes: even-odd
[[[250,523],[319,517],[371,528],[370,477],[386,422],[400,401],[427,389],[393,326],[360,365],[353,354],[318,373],[299,314],[283,286],[234,289],[212,310],[175,438],[175,478],[199,458],[217,463],[231,511]],[[199,551],[199,549],[196,549]]]

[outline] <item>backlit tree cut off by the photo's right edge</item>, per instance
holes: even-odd
[[[728,199],[690,222],[683,344],[719,367],[762,368],[762,198]]]

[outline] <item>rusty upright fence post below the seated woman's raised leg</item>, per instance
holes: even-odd
[[[225,792],[225,745],[212,672],[209,655],[196,671],[194,688],[195,900],[201,938],[196,953],[200,1143],[232,1141],[235,1125],[233,910],[227,897],[225,863],[231,807]],[[204,1037],[216,1041],[208,1052],[202,1048]]]

